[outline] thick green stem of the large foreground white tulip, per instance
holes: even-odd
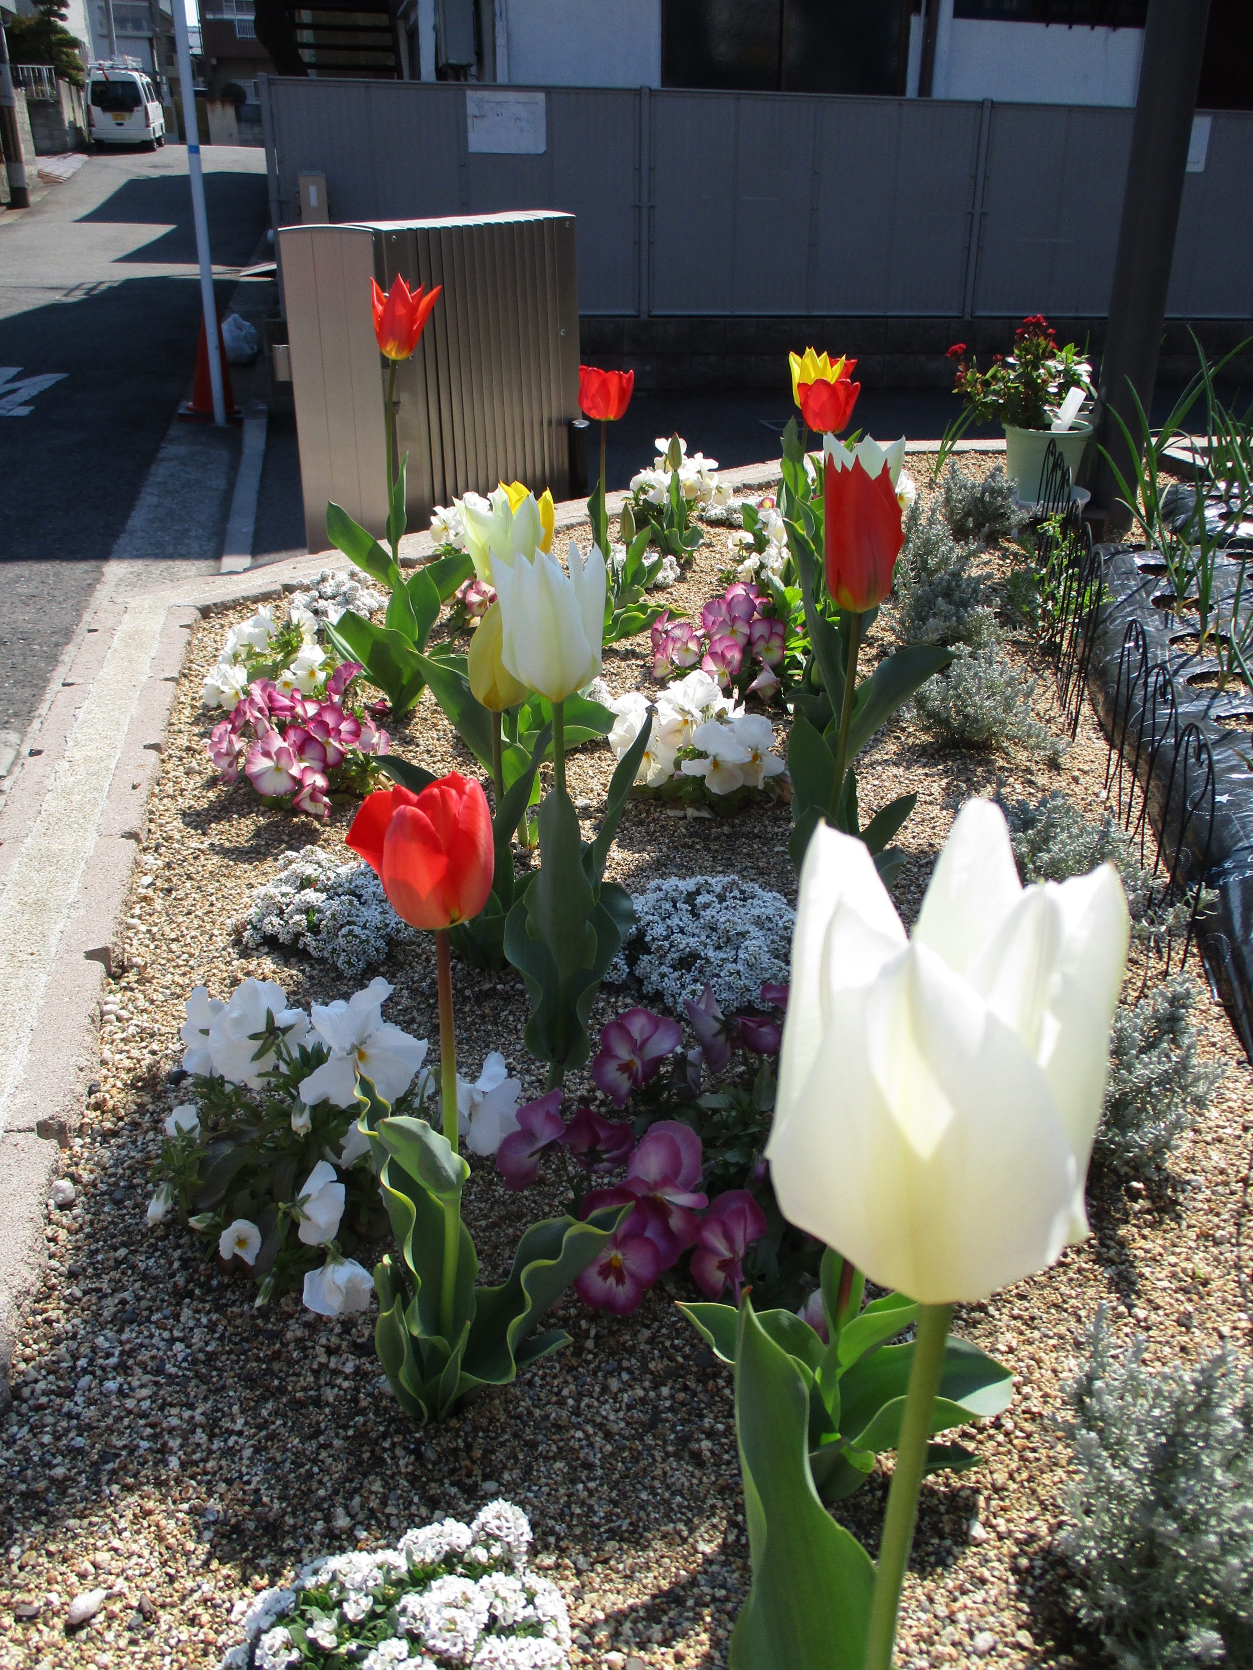
[[[900,1420],[900,1441],[895,1451],[884,1536],[879,1543],[879,1563],[874,1575],[870,1625],[865,1635],[865,1670],[892,1670],[900,1585],[906,1580],[909,1550],[914,1541],[917,1498],[922,1470],[927,1463],[927,1440],[931,1438],[931,1414],[944,1373],[944,1344],[949,1338],[951,1321],[951,1304],[919,1306],[906,1413]]]

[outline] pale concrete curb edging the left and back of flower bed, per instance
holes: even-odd
[[[991,451],[992,443],[974,443]],[[1004,443],[999,443],[1002,448]],[[922,451],[922,448],[916,448]],[[777,464],[722,471],[737,491],[779,481]],[[611,493],[616,513],[625,493]],[[556,506],[556,528],[586,503]],[[132,533],[134,538],[134,533]],[[406,534],[401,561],[433,549]],[[27,1296],[47,1263],[45,1202],[57,1144],[82,1116],[99,1060],[100,982],[112,965],[135,848],[165,740],[189,628],[236,603],[296,590],[339,551],[244,573],[140,586],[149,564],[105,573],[48,685],[0,800],[0,1398]]]

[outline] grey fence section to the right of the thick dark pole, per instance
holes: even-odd
[[[1188,174],[1166,311],[1178,319],[1253,317],[1253,114],[1216,110],[1201,174]]]

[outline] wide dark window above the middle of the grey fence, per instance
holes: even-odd
[[[895,0],[663,0],[662,85],[892,95],[900,23]]]

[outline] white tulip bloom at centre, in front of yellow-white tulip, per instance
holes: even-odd
[[[545,551],[535,551],[530,561],[493,556],[491,563],[501,608],[501,661],[550,701],[563,701],[600,673],[605,558],[593,544],[585,559],[571,539],[568,561],[568,574]]]

